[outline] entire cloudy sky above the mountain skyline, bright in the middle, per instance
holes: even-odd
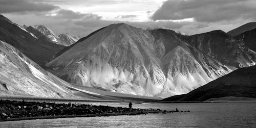
[[[256,21],[255,0],[1,0],[0,13],[20,25],[44,24],[56,34],[88,34],[112,23],[174,29],[189,35],[228,32]]]

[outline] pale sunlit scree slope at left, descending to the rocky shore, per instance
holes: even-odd
[[[3,41],[0,41],[0,60],[1,94],[75,98],[71,90],[60,86],[68,85],[67,82]]]

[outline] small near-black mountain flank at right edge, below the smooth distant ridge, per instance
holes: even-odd
[[[244,43],[245,46],[256,52],[256,29],[246,31],[236,37],[240,42]]]

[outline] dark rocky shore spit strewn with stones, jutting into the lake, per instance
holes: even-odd
[[[170,112],[179,111],[162,111],[160,109],[133,109],[133,112],[130,112],[129,108],[93,106],[89,104],[56,104],[45,102],[28,102],[24,100],[0,100],[0,121],[111,115],[140,115],[150,113],[165,114]]]

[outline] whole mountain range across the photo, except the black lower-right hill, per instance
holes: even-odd
[[[0,82],[11,85],[3,86],[2,94],[106,99],[121,93],[128,94],[125,97],[185,94],[255,65],[253,29],[241,34],[216,30],[188,36],[118,23],[76,41],[68,34],[57,36],[44,25],[20,27],[1,15]],[[24,87],[31,92],[25,93]],[[40,89],[45,93],[39,95]]]

